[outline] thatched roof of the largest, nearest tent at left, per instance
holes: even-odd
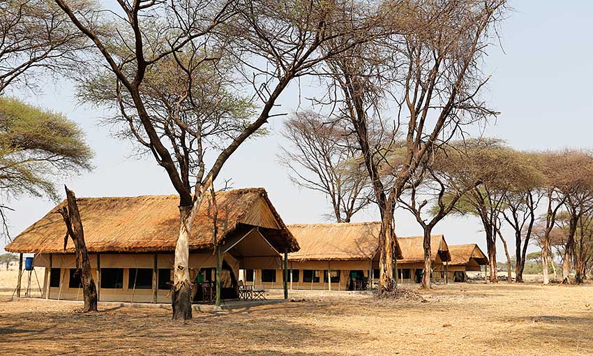
[[[179,196],[144,195],[117,198],[78,198],[89,252],[174,251],[179,235]],[[298,251],[299,244],[271,205],[264,188],[216,193],[218,237],[257,226],[278,251]],[[47,213],[6,246],[17,253],[63,253],[66,226],[57,211]],[[213,249],[213,205],[207,195],[197,212],[190,236],[190,250]],[[66,252],[73,252],[68,241]]]

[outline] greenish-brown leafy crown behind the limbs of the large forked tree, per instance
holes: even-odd
[[[196,50],[164,57],[149,66],[144,75],[140,96],[153,126],[175,151],[174,161],[188,156],[181,161],[187,159],[190,172],[195,175],[204,155],[226,147],[255,114],[256,107],[250,98],[233,89],[231,68],[222,54]],[[111,71],[88,73],[79,82],[79,89],[80,101],[113,109],[113,115],[105,121],[117,128],[119,137],[149,142],[133,98]],[[251,137],[266,133],[262,128]],[[145,144],[139,147],[141,153],[150,154]]]

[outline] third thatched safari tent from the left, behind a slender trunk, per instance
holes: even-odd
[[[403,258],[398,260],[398,279],[402,283],[420,283],[424,268],[423,237],[398,237]],[[433,281],[448,282],[447,270],[451,261],[444,235],[430,237],[430,262]]]

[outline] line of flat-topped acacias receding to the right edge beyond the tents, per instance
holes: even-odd
[[[287,121],[286,130],[305,127],[299,126],[302,119],[295,116]],[[307,126],[306,134],[314,136],[320,132],[320,127],[329,126],[317,122],[317,128]],[[347,142],[343,135],[346,134],[338,135],[341,144]],[[291,142],[298,147],[304,141],[293,139]],[[391,162],[405,158],[404,142],[380,142],[380,147]],[[360,155],[361,151],[354,151],[347,163],[331,163],[356,167]],[[284,154],[284,157],[288,156]],[[291,157],[292,165],[302,163],[298,156]],[[310,160],[310,156],[307,159]],[[331,161],[332,157],[317,156],[317,159],[325,162]],[[331,165],[324,163],[320,166]],[[365,188],[357,188],[355,195],[348,188],[343,188],[341,193],[356,196],[366,204],[371,202],[372,198],[366,193],[372,191],[368,175],[357,176],[363,173],[360,170],[347,172],[353,175],[348,177],[350,180],[366,179]],[[381,179],[389,184],[396,173],[391,166],[384,167],[380,171]],[[338,178],[341,179],[341,176],[333,175],[334,183]],[[295,180],[306,186],[302,181]],[[326,180],[331,180],[331,176],[328,175]],[[338,185],[345,187],[344,184]],[[359,205],[363,206],[363,202]],[[555,256],[562,261],[561,281],[564,283],[582,283],[587,272],[593,269],[593,154],[590,151],[518,151],[502,140],[488,138],[442,142],[408,177],[398,203],[400,209],[412,213],[423,229],[425,276],[430,276],[432,272],[431,232],[442,218],[456,214],[479,218],[486,237],[492,282],[498,281],[497,241],[504,246],[507,276],[511,276],[512,270],[517,282],[523,281],[530,245],[541,248],[539,261],[546,284],[550,281],[548,268],[552,267],[556,274]],[[334,210],[339,208],[333,204]],[[505,225],[513,232],[512,237],[503,235]],[[507,239],[513,239],[515,251],[509,251]],[[430,281],[423,279],[422,284],[428,288]]]

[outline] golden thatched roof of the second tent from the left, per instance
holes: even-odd
[[[288,229],[301,246],[289,260],[370,260],[379,248],[381,223],[296,224]]]

